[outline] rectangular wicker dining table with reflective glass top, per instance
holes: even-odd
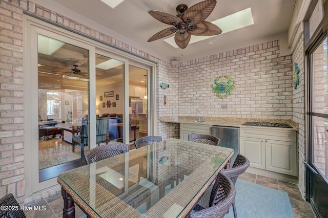
[[[167,139],[61,173],[63,217],[188,216],[233,152]]]

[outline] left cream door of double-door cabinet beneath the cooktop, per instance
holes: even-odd
[[[250,166],[265,169],[265,141],[240,137],[239,152],[250,160]]]

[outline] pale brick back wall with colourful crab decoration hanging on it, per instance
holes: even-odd
[[[177,76],[180,116],[292,119],[292,56],[278,40],[183,62]],[[212,92],[219,76],[235,81],[228,97]]]

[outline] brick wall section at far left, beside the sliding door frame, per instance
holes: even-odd
[[[0,197],[24,201],[23,11],[0,2]]]

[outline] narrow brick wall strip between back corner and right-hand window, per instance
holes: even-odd
[[[304,34],[300,36],[293,53],[293,62],[297,63],[299,72],[299,86],[293,88],[293,120],[298,123],[298,184],[305,197],[305,75],[304,75]],[[294,65],[294,64],[293,64]],[[293,72],[295,67],[293,66]]]

